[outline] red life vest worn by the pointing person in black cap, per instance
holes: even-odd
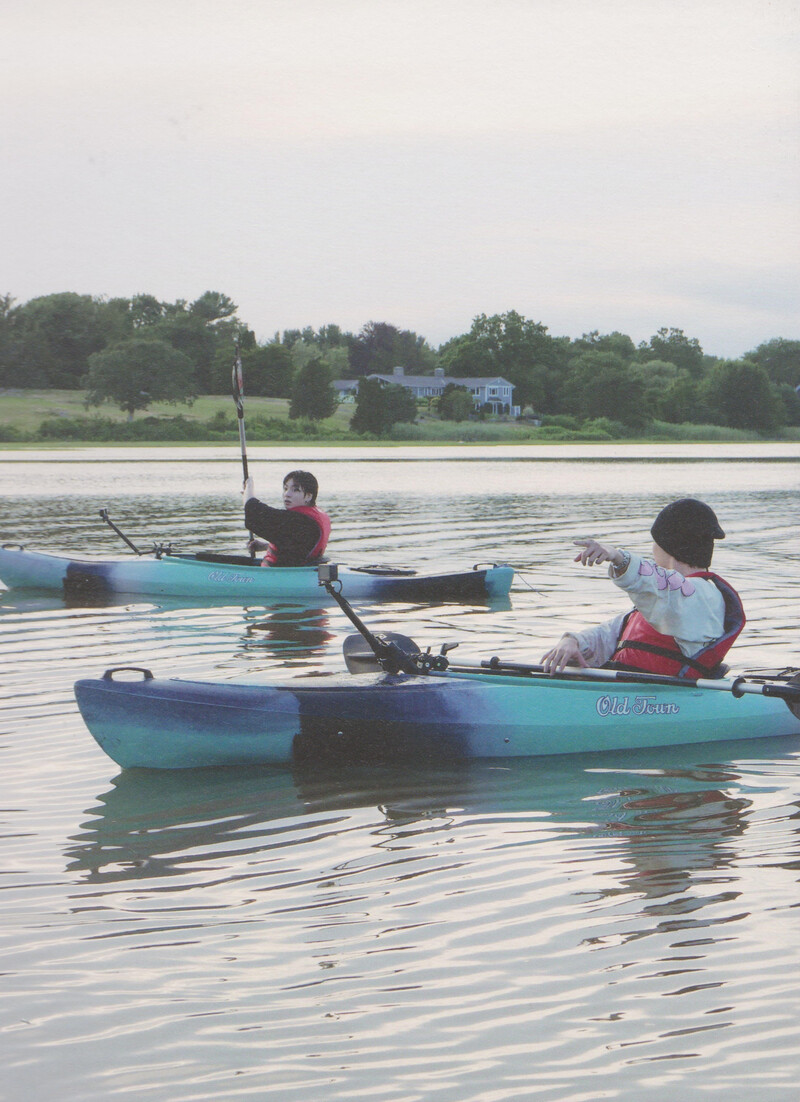
[[[738,593],[718,574],[698,571],[688,576],[707,577],[722,593],[725,601],[722,635],[689,658],[680,649],[673,636],[661,635],[640,612],[634,611],[627,616],[617,649],[612,655],[615,665],[679,678],[714,677],[714,671],[745,626],[745,611]]]

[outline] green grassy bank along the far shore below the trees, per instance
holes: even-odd
[[[245,402],[248,442],[272,444],[343,444],[357,446],[376,441],[349,431],[353,404],[339,406],[333,417],[311,423],[289,419],[289,401],[283,398],[247,398]],[[556,419],[564,420],[564,419]],[[566,419],[569,420],[569,419]],[[575,424],[522,422],[440,421],[420,411],[414,424],[394,425],[392,444],[553,444],[614,443],[731,443],[758,442],[753,432],[710,424],[653,422],[636,437],[621,425],[604,419]],[[800,440],[800,429],[787,429],[783,441]],[[236,410],[227,396],[203,396],[192,404],[153,402],[133,420],[113,406],[87,408],[79,390],[0,390],[0,449],[64,447],[101,444],[127,446],[158,444],[217,444],[238,440]]]

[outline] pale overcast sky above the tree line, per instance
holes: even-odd
[[[800,338],[800,0],[0,0],[0,293]]]

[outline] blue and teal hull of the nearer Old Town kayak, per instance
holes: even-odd
[[[75,685],[88,730],[122,768],[461,761],[800,734],[782,700],[691,685],[451,672],[275,684],[142,672]]]

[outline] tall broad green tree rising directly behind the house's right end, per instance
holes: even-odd
[[[511,310],[491,317],[479,314],[468,333],[440,349],[440,357],[447,375],[508,379],[516,403],[553,412],[566,372],[569,344],[566,338],[551,337],[540,322]]]

